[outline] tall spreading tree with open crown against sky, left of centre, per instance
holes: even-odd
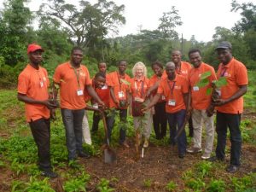
[[[98,0],[96,4],[82,0],[79,7],[64,0],[48,0],[48,3],[41,5],[38,15],[41,22],[50,20],[61,23],[77,45],[94,49],[109,32],[117,33],[117,27],[125,24],[125,17],[121,15],[124,9],[124,5],[117,6],[107,0]]]

